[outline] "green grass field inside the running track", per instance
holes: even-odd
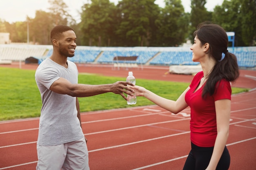
[[[35,82],[35,71],[18,68],[0,67],[0,121],[39,117],[42,106],[39,90]],[[79,74],[79,83],[108,84],[126,77],[104,77],[94,74]],[[189,86],[189,83],[137,79],[136,84],[144,86],[154,93],[176,100]],[[232,93],[248,91],[244,88],[232,88]],[[81,112],[152,105],[148,99],[137,97],[136,105],[127,105],[121,95],[105,93],[102,95],[79,98]]]

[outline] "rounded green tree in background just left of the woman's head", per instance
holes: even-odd
[[[165,7],[161,10],[156,24],[159,46],[178,46],[185,42],[189,17],[184,12],[181,0],[165,0]]]

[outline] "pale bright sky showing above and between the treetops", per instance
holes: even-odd
[[[119,0],[110,0],[110,2],[118,3]],[[213,11],[216,5],[221,5],[223,0],[207,0],[205,7],[208,11]],[[81,7],[88,0],[63,0],[67,4],[68,11],[75,20],[80,20]],[[164,0],[155,0],[155,4],[164,7]],[[191,0],[182,0],[185,12],[190,12]],[[17,21],[25,21],[27,16],[35,18],[37,10],[48,11],[50,7],[48,0],[1,0],[0,19],[9,23]]]

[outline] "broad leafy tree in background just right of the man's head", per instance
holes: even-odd
[[[80,23],[82,44],[110,46],[115,31],[115,11],[115,4],[109,0],[92,0],[91,4],[84,4]]]

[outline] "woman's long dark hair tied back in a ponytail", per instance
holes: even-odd
[[[228,37],[226,31],[217,24],[203,22],[198,25],[198,30],[194,32],[194,36],[200,40],[201,45],[209,43],[209,51],[207,53],[216,60],[206,82],[202,97],[213,95],[215,87],[221,79],[234,82],[239,77],[239,66],[236,55],[229,53],[227,50]],[[222,53],[225,57],[222,59]]]

